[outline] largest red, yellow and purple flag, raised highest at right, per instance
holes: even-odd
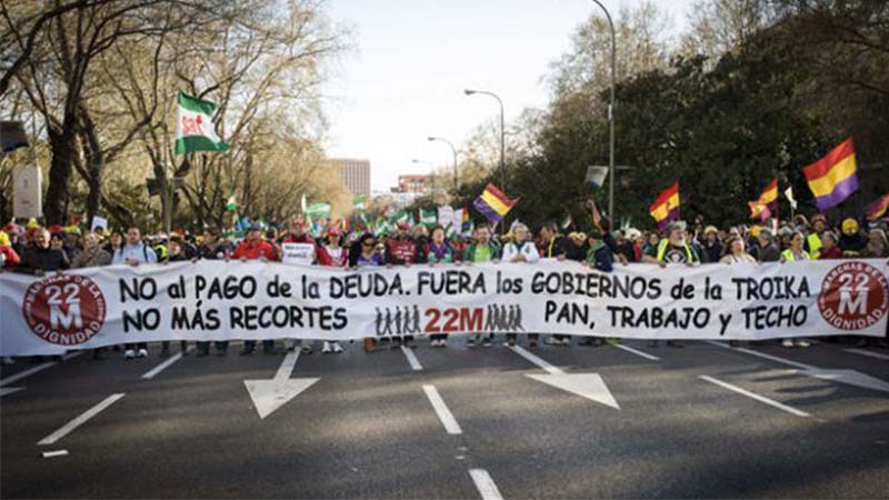
[[[840,204],[858,191],[852,138],[846,139],[825,158],[803,167],[802,172],[815,194],[818,210],[825,211]]]

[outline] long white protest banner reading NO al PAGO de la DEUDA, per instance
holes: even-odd
[[[643,339],[886,336],[886,260],[577,262],[347,271],[258,261],[0,273],[0,354],[159,340],[533,332]]]

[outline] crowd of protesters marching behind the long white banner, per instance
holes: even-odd
[[[603,272],[613,267],[630,262],[667,264],[735,264],[756,262],[793,262],[799,260],[825,260],[845,258],[887,258],[886,222],[865,229],[855,219],[830,223],[822,214],[811,220],[796,216],[791,221],[767,224],[741,224],[730,228],[708,226],[701,218],[692,224],[673,222],[665,231],[640,231],[633,228],[616,229],[608,219],[600,217],[596,206],[588,203],[590,221],[588,229],[561,234],[556,223],[542,224],[537,233],[520,222],[511,224],[509,232],[498,236],[488,224],[480,223],[471,236],[448,237],[446,229],[423,224],[411,226],[398,222],[391,233],[372,231],[346,232],[340,227],[329,226],[318,238],[309,233],[301,218],[290,221],[286,227],[251,226],[238,238],[223,236],[218,229],[207,228],[201,233],[184,231],[143,237],[140,228],[126,231],[99,228],[84,231],[76,226],[39,227],[29,223],[22,228],[7,224],[0,231],[0,269],[13,272],[42,274],[66,269],[88,268],[110,264],[139,266],[171,261],[208,260],[262,260],[291,263],[317,264],[337,268],[364,268],[374,266],[411,266],[452,262],[525,262],[533,264],[540,259],[559,259],[581,262]],[[290,243],[290,244],[288,244]],[[468,339],[469,347],[490,347],[492,333],[477,334]],[[416,347],[410,336],[391,339],[364,340],[364,350],[372,352],[378,342],[388,342],[392,348]],[[430,336],[430,346],[444,348],[447,334]],[[539,336],[528,333],[527,341],[536,347]],[[587,337],[581,346],[601,346],[606,341]],[[506,342],[515,346],[516,334],[507,334]],[[548,344],[571,346],[570,336],[552,334]],[[670,347],[681,348],[683,342],[671,340]],[[737,342],[732,342],[737,344]],[[808,347],[802,339],[785,339],[785,347]],[[880,343],[885,346],[885,341]],[[657,341],[649,341],[657,347]],[[217,341],[218,356],[226,356],[229,342]],[[296,339],[284,341],[287,350],[300,349],[311,353],[312,344]],[[114,348],[120,350],[120,348]],[[186,341],[180,342],[183,353],[188,352]],[[244,341],[241,356],[254,352],[256,341]],[[276,342],[263,340],[264,353],[276,353]],[[146,343],[126,344],[122,348],[126,359],[148,356]],[[342,346],[336,341],[324,341],[321,351],[340,353]],[[161,356],[170,353],[170,342],[161,343]],[[197,342],[197,356],[208,356],[210,342]],[[104,356],[104,349],[93,351],[93,357]]]

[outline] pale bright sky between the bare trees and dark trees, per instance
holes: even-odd
[[[638,1],[602,3],[616,14]],[[683,27],[688,3],[656,2],[673,31]],[[428,136],[460,148],[499,113],[496,100],[466,97],[466,88],[498,93],[507,121],[526,107],[545,107],[542,76],[569,49],[573,30],[598,12],[588,0],[329,0],[328,7],[334,22],[354,30],[357,46],[326,88],[328,154],[369,159],[374,191],[394,186],[400,173],[451,163],[448,147]]]

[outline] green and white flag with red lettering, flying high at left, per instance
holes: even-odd
[[[229,144],[213,130],[216,104],[179,92],[179,112],[176,121],[176,154],[193,151],[226,151]]]

